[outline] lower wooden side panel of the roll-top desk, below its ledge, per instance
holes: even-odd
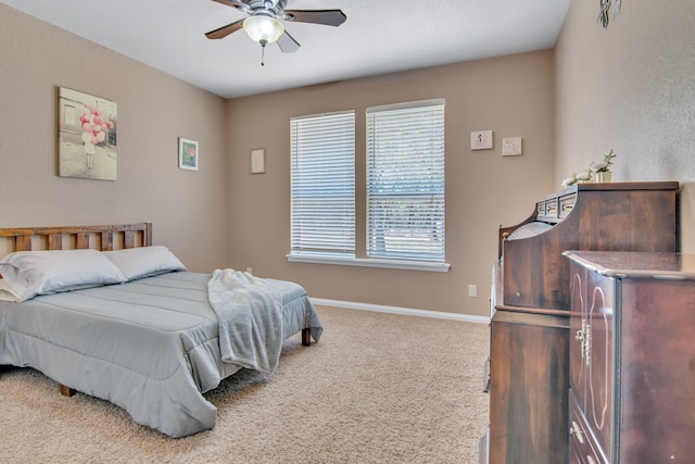
[[[567,317],[497,311],[491,323],[490,462],[567,461]]]

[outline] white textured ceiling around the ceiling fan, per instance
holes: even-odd
[[[225,98],[553,48],[570,0],[289,0],[341,9],[340,27],[286,23],[282,53],[243,30],[204,33],[245,15],[212,0],[1,0]]]

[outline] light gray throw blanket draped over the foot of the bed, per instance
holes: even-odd
[[[207,283],[222,360],[273,374],[282,348],[281,289],[270,279],[216,269]]]

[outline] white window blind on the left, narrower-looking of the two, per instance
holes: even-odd
[[[355,255],[355,112],[290,120],[291,254]]]

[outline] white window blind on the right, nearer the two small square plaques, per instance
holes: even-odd
[[[444,262],[444,100],[367,109],[367,256]]]

